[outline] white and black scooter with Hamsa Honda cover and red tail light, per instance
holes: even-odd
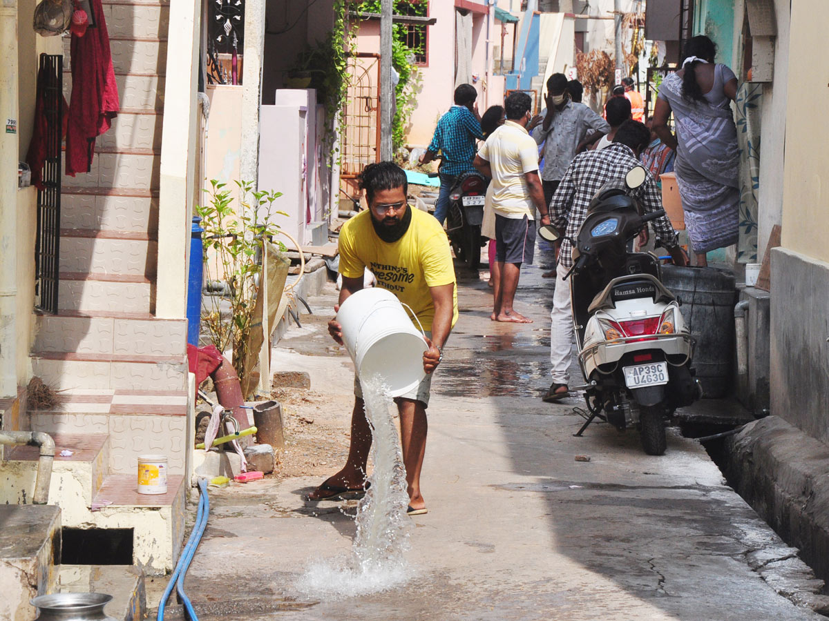
[[[662,285],[659,260],[628,251],[651,220],[630,191],[647,173],[635,166],[608,181],[591,200],[573,243],[570,299],[579,366],[589,416],[575,436],[597,417],[619,431],[638,429],[648,455],[665,453],[665,427],[677,407],[702,396],[691,368],[696,339],[689,333],[680,301]],[[540,234],[562,237],[548,225]]]

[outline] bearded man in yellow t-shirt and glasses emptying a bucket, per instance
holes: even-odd
[[[388,289],[410,306],[426,331],[429,342],[429,349],[423,355],[426,377],[417,388],[395,399],[400,411],[400,440],[409,486],[408,513],[418,515],[426,513],[426,503],[420,493],[420,470],[426,449],[429,387],[432,373],[443,359],[449,332],[458,320],[452,253],[439,222],[406,205],[408,184],[400,166],[390,161],[366,166],[361,188],[366,190],[369,208],[340,230],[339,303],[363,288],[363,273],[368,267],[377,279],[377,286]],[[339,310],[339,306],[334,310]],[[328,322],[328,331],[342,344],[342,328],[336,319]],[[308,500],[345,500],[365,493],[371,430],[366,421],[359,378],[355,378],[354,394],[351,447],[346,465],[309,493]]]

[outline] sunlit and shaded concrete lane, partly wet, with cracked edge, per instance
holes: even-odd
[[[792,551],[695,440],[669,430],[667,454],[647,456],[634,432],[597,424],[572,436],[579,399],[541,402],[552,296],[542,267],[525,268],[516,301],[531,325],[492,323],[487,283],[462,277],[461,317],[429,407],[429,513],[411,518],[411,580],[339,601],[299,594],[311,561],[349,551],[356,503],[344,511],[304,503],[321,477],[265,479],[211,490],[209,526],[187,577],[201,619],[822,618],[751,569]],[[327,395],[315,424],[337,420],[344,429],[351,361],[322,320],[336,295],[329,285],[310,300],[322,317],[303,315],[273,365],[308,371]],[[320,460],[332,473],[342,457]]]

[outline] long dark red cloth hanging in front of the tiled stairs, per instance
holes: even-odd
[[[118,84],[109,51],[101,0],[90,0],[95,27],[72,35],[72,94],[66,129],[66,174],[89,172],[95,138],[106,132],[119,111]]]

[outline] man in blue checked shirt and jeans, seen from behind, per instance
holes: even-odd
[[[483,140],[481,115],[478,113],[478,91],[472,84],[461,84],[455,89],[455,104],[444,113],[434,128],[434,137],[429,149],[420,156],[421,164],[434,160],[438,152],[444,161],[440,165],[440,192],[434,203],[434,217],[444,224],[449,209],[449,190],[455,177],[466,171],[475,170],[475,140]]]

